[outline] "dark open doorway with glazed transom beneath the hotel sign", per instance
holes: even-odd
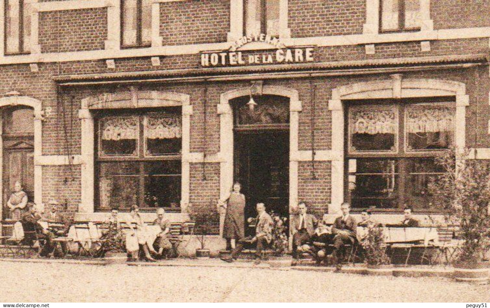
[[[267,212],[289,216],[289,98],[277,95],[233,101],[234,180],[245,194],[245,217],[256,216],[256,204]]]

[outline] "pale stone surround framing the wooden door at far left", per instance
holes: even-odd
[[[34,203],[37,207],[42,210],[43,208],[43,193],[42,193],[42,178],[43,178],[43,167],[38,164],[38,160],[42,155],[42,121],[43,121],[43,111],[42,103],[36,98],[29,96],[22,96],[17,92],[7,93],[8,96],[0,98],[0,108],[6,106],[27,106],[34,110]],[[3,141],[0,136],[0,200],[3,199],[3,187],[2,187],[2,175],[3,175]],[[0,215],[1,213],[0,209]]]

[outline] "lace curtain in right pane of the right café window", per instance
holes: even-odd
[[[411,108],[407,110],[408,133],[454,131],[454,110],[451,108]]]

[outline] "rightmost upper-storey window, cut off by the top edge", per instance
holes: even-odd
[[[420,0],[381,0],[381,31],[420,29]]]

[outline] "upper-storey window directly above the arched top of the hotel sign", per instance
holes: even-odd
[[[245,34],[279,36],[279,0],[245,0]]]

